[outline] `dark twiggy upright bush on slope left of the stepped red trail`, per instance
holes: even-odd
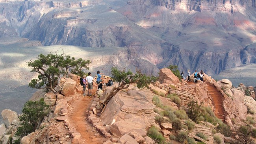
[[[191,101],[188,104],[188,117],[193,120],[194,122],[198,122],[199,121],[199,117],[202,115],[202,112],[200,110],[200,108],[202,107],[201,105],[198,105],[197,102],[195,101]]]

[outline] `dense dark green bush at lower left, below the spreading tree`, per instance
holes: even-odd
[[[48,107],[49,105],[46,105],[43,99],[39,102],[26,102],[22,108],[22,115],[19,117],[21,124],[17,129],[16,136],[24,137],[35,131],[43,117],[46,116],[45,110]]]

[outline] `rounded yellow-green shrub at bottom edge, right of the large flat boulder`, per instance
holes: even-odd
[[[163,135],[158,131],[158,128],[155,126],[152,126],[147,131],[147,136],[155,140],[158,144],[164,144],[165,138]]]

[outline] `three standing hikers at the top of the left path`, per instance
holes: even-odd
[[[103,73],[100,73],[100,71],[98,70],[97,71],[97,79],[96,79],[96,83],[97,83],[97,88],[98,88],[98,85],[102,82],[102,77],[101,77],[101,74]],[[81,81],[82,80],[82,81]],[[86,86],[88,88],[88,94],[87,96],[91,96],[92,95],[92,89],[93,89],[93,80],[94,78],[91,76],[91,72],[88,73],[88,76],[83,76],[83,78],[80,80],[80,84],[83,86],[83,96],[85,96],[85,89],[86,89]]]

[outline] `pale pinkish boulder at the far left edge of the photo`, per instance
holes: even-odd
[[[6,127],[9,127],[13,120],[18,119],[18,114],[10,109],[4,109],[1,114]]]

